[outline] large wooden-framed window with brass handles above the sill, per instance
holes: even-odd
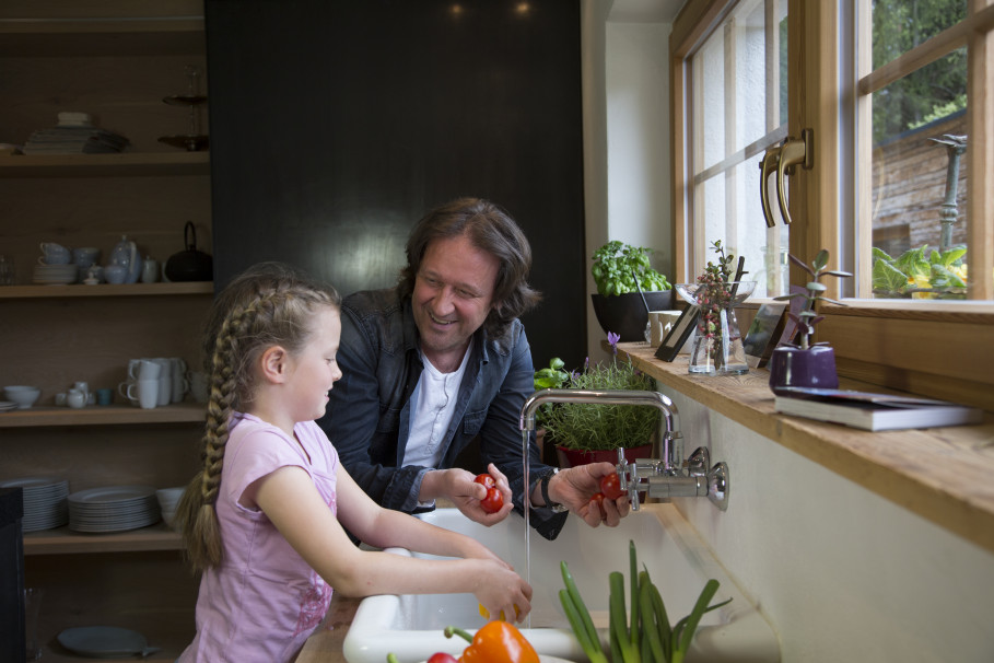
[[[829,248],[855,274],[827,283],[847,305],[818,329],[841,375],[994,410],[992,28],[994,0],[688,0],[670,36],[678,278],[721,239],[774,295],[803,275],[777,281],[773,252]],[[793,223],[767,230],[758,164],[803,129]],[[919,271],[880,274],[916,249]]]

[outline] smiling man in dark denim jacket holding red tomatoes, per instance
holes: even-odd
[[[522,512],[519,418],[535,391],[518,317],[540,295],[526,280],[531,248],[517,224],[486,200],[461,198],[422,218],[407,244],[395,288],[356,292],[342,303],[338,362],[343,377],[318,423],[349,474],[382,505],[409,513],[452,501],[492,525]],[[454,467],[479,438],[480,454],[504,505],[488,513],[475,475]],[[592,526],[616,526],[627,498],[590,502],[598,463],[558,472],[528,445],[530,522],[554,538],[565,509]],[[565,509],[563,509],[565,508]]]

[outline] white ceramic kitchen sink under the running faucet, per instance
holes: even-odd
[[[456,509],[437,509],[420,517],[472,536],[513,565],[522,575],[527,573],[523,519],[511,515],[500,525],[488,528],[469,521]],[[595,625],[603,629],[605,652],[610,651],[607,640],[608,573],[623,572],[628,586],[630,539],[635,542],[640,568],[645,565],[659,588],[671,623],[690,613],[710,578],[721,582],[713,603],[733,598],[728,605],[704,615],[688,661],[780,661],[780,644],[773,629],[673,504],[645,504],[616,528],[588,527],[571,515],[556,540],[531,534],[530,582],[535,592],[531,623],[530,626],[527,623],[517,626],[539,654],[586,661],[559,603],[559,590],[563,588],[561,560],[569,565]],[[410,555],[402,548],[388,550]],[[370,596],[362,601],[355,613],[343,653],[349,663],[384,663],[390,652],[400,663],[425,661],[440,651],[459,654],[466,648],[466,641],[446,639],[443,629],[454,625],[472,631],[483,624],[471,594]]]

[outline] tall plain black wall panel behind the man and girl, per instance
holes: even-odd
[[[266,259],[342,294],[391,286],[411,225],[479,196],[531,242],[536,364],[582,364],[576,0],[206,0],[206,12],[219,287]]]

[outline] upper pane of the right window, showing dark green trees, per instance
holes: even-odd
[[[967,0],[874,0],[877,69],[967,16]]]

